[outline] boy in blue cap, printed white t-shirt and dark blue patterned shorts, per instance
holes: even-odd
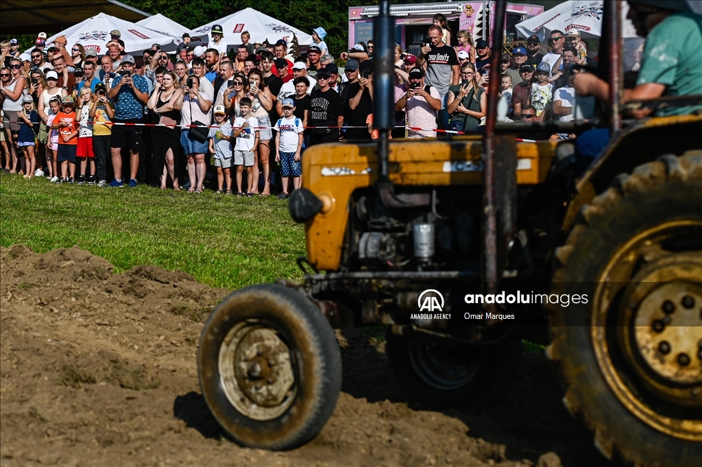
[[[288,178],[293,177],[293,188],[300,188],[300,177],[303,174],[302,163],[300,162],[300,151],[303,149],[303,133],[305,127],[302,120],[293,115],[295,102],[292,99],[285,99],[281,105],[283,108],[283,118],[279,119],[273,127],[275,133],[275,147],[277,155],[275,162],[280,162],[280,178],[283,182],[283,192],[279,199],[289,197]]]

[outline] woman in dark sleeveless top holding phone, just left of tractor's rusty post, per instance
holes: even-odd
[[[451,115],[451,129],[464,131],[480,125],[487,112],[487,94],[479,86],[475,65],[466,62],[461,66],[461,84],[449,87],[446,110]]]

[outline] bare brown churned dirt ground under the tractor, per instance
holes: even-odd
[[[479,415],[408,406],[366,331],[339,334],[343,393],[310,444],[243,449],[204,403],[201,322],[227,291],[184,272],[112,274],[77,248],[0,249],[0,465],[606,466],[543,355]]]

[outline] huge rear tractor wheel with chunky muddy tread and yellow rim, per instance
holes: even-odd
[[[550,305],[547,355],[567,408],[609,458],[699,466],[702,151],[618,176],[579,211],[555,257],[552,293],[571,303]]]

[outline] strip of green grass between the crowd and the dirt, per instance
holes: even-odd
[[[38,253],[77,245],[116,272],[152,264],[238,289],[302,277],[295,260],[305,254],[304,230],[287,206],[276,197],[55,185],[4,174],[0,244]]]

